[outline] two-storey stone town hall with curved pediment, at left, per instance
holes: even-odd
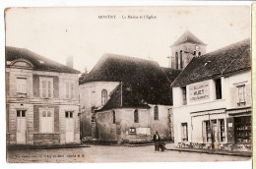
[[[80,142],[79,73],[6,47],[7,144]]]

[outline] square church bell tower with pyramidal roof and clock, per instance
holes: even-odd
[[[171,46],[169,68],[184,69],[193,57],[206,53],[207,44],[189,30],[186,30]]]

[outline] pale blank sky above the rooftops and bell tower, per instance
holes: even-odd
[[[115,19],[98,19],[98,16]],[[128,19],[128,16],[156,19]],[[10,8],[6,45],[27,48],[74,69],[91,71],[104,53],[157,61],[167,67],[170,45],[190,30],[207,52],[249,38],[249,6]],[[126,19],[123,19],[126,17]]]

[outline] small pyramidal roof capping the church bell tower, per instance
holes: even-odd
[[[187,42],[206,45],[206,43],[196,37],[192,32],[186,30],[171,46],[177,46]]]

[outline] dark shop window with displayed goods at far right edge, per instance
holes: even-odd
[[[251,125],[251,117],[243,116],[243,117],[235,117],[235,141],[236,143],[251,143],[252,141],[252,125]]]

